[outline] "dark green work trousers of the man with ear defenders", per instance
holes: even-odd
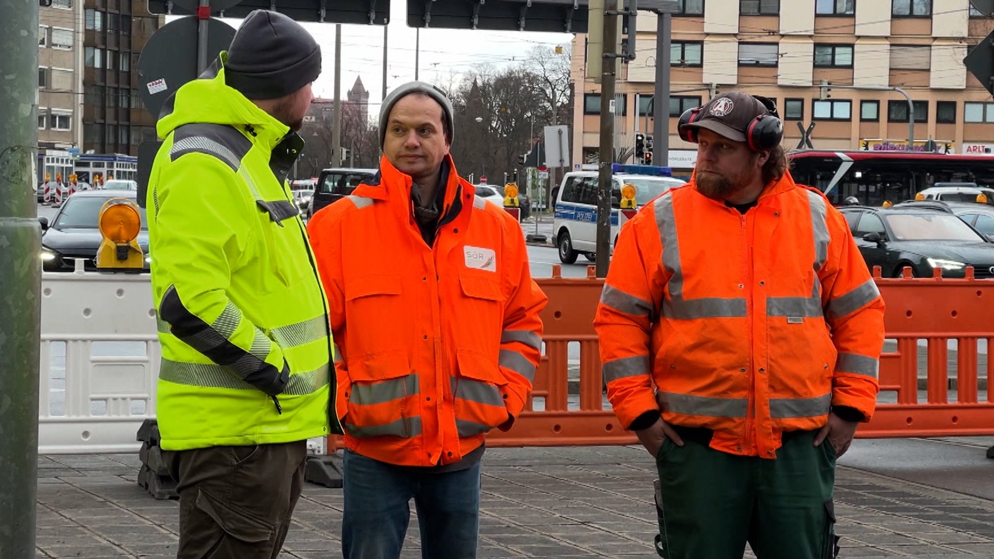
[[[665,559],[833,559],[835,449],[816,432],[784,433],[775,460],[708,447],[710,431],[680,429],[656,456],[656,552]],[[686,434],[686,436],[683,436]]]

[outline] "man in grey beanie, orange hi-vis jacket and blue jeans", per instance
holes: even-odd
[[[308,225],[337,344],[346,559],[400,557],[412,498],[422,557],[476,557],[484,435],[510,429],[541,356],[521,226],[459,178],[453,117],[432,85],[394,89],[380,173]]]

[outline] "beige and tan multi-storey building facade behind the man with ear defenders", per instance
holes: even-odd
[[[670,56],[670,164],[692,165],[695,146],[677,135],[679,115],[714,91],[742,89],[776,100],[784,147],[812,123],[817,149],[907,149],[933,140],[948,153],[994,150],[994,98],[963,65],[994,19],[969,0],[679,0]],[[635,127],[652,131],[656,17],[637,18],[636,58],[617,84],[616,145]],[[574,161],[595,161],[599,85],[586,79],[585,37],[573,45],[578,96]],[[832,84],[821,98],[822,80]],[[843,88],[839,86],[855,86]],[[901,87],[913,101],[913,114]],[[636,96],[638,107],[636,107]],[[636,115],[638,123],[636,124]],[[657,164],[665,162],[656,161]]]

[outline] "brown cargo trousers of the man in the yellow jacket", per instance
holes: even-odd
[[[307,442],[165,452],[180,493],[177,559],[275,559],[304,483]]]

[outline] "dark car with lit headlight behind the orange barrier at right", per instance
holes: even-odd
[[[904,203],[893,208],[850,206],[839,209],[849,222],[867,266],[881,267],[884,277],[901,277],[906,267],[914,277],[994,278],[994,243],[935,202]]]

